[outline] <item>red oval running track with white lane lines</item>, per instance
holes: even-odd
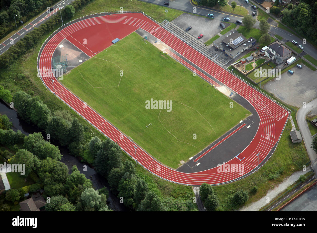
[[[88,34],[89,30],[93,29],[93,27],[91,27],[92,25],[104,24],[107,26],[109,23],[130,25],[131,28],[141,28],[151,33],[160,41],[170,46],[171,49],[175,50],[186,59],[196,64],[199,68],[215,77],[224,85],[243,96],[243,98],[248,100],[249,103],[256,109],[260,118],[260,124],[255,137],[237,156],[239,159],[234,157],[227,162],[229,165],[243,164],[243,174],[241,174],[241,171],[217,172],[217,167],[194,173],[178,172],[160,164],[145,151],[141,150],[139,146],[136,150],[138,163],[140,163],[149,172],[152,172],[162,179],[185,185],[200,185],[202,183],[222,184],[242,178],[245,174],[255,170],[258,161],[256,154],[260,153],[259,163],[261,163],[278,142],[288,119],[289,112],[254,88],[236,78],[234,75],[230,74],[227,70],[219,67],[213,61],[210,61],[204,55],[179,40],[176,36],[160,27],[142,13],[123,13],[86,18],[61,29],[61,31],[55,34],[48,42],[46,42],[46,44],[44,44],[42,51],[39,53],[38,68],[51,67],[52,56],[55,48],[67,36],[74,32],[78,32],[79,30],[83,30],[84,33]],[[120,27],[117,27],[116,29],[120,30]],[[91,32],[91,34],[93,34],[93,32]],[[94,46],[89,49],[91,49],[94,53],[97,53],[99,50],[97,47],[94,48]],[[42,77],[42,81],[49,90],[53,90],[49,75],[45,74],[45,76]],[[107,122],[89,106],[85,107],[83,101],[69,92],[59,82],[55,81],[54,89],[55,94],[61,100],[94,125],[98,130],[100,130],[100,132],[104,133],[114,142],[117,142],[126,153],[135,159],[133,146],[137,145],[134,144],[133,141],[128,139],[125,135],[123,135],[123,139],[120,139],[121,135],[118,129]],[[237,152],[237,154],[238,153],[239,152]]]

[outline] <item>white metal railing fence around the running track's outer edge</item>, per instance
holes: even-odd
[[[150,17],[150,16],[148,16],[147,14],[145,14],[143,11],[140,11],[140,10],[137,10],[137,11],[123,11],[123,12],[120,12],[120,11],[113,11],[113,12],[102,12],[102,13],[95,13],[95,14],[90,14],[90,15],[87,15],[87,16],[82,16],[82,17],[80,17],[80,18],[77,18],[77,19],[74,19],[74,20],[72,20],[72,21],[70,21],[70,22],[68,22],[68,23],[71,23],[71,22],[74,22],[74,21],[80,21],[80,19],[82,19],[82,18],[87,18],[88,16],[93,16],[93,15],[100,15],[100,14],[118,14],[118,13],[142,13],[143,15],[145,15],[145,16],[147,16],[148,18],[150,18],[151,20],[153,20],[155,23],[157,23],[157,24],[159,24],[159,22],[157,22],[156,20],[154,20],[152,17]],[[61,28],[63,28],[65,25],[67,25],[68,23],[66,23],[66,24],[64,24],[64,25],[62,25],[61,27],[59,27],[58,29],[56,29],[45,41],[44,41],[44,43],[42,44],[42,46],[41,46],[41,48],[40,48],[40,50],[39,50],[39,53],[38,53],[38,55],[37,55],[37,67],[39,68],[39,56],[40,56],[40,53],[41,53],[41,51],[42,51],[42,49],[43,49],[43,46],[48,42],[48,40],[49,39],[51,39],[51,37],[52,36],[54,36],[55,35],[55,33],[57,32],[57,31],[59,31]],[[185,41],[184,41],[185,42]],[[193,48],[195,48],[195,47],[193,47]],[[196,48],[195,48],[196,49]],[[199,51],[199,49],[198,49],[198,51]],[[209,58],[209,56],[207,55],[207,57]],[[232,73],[233,75],[235,75],[237,78],[239,78],[240,80],[242,80],[242,81],[244,81],[245,83],[247,83],[249,86],[251,86],[251,87],[253,87],[254,89],[256,89],[256,90],[258,90],[259,92],[261,92],[262,94],[264,94],[265,96],[267,96],[268,98],[270,98],[271,100],[273,100],[274,102],[276,102],[276,103],[278,103],[276,100],[274,100],[273,98],[271,98],[270,96],[268,96],[267,94],[265,94],[265,93],[263,93],[261,90],[259,90],[258,88],[256,88],[256,87],[254,87],[253,85],[251,85],[250,83],[248,83],[247,81],[245,81],[245,80],[243,80],[242,78],[240,78],[239,76],[237,76],[236,74],[234,74],[233,72],[231,72],[230,70],[228,70],[230,73]],[[42,80],[42,82],[43,82],[43,84],[44,84],[44,86],[51,92],[51,93],[53,93],[54,95],[55,95],[55,93],[52,91],[52,90],[50,90],[49,89],[49,87],[45,84],[45,82],[43,81],[43,79],[42,79],[42,75],[41,75],[41,73],[39,74],[40,75],[40,78],[41,78],[41,80]],[[56,95],[57,96],[57,95]],[[77,112],[73,107],[71,107],[68,103],[66,103],[64,100],[62,100],[59,96],[57,96],[62,102],[64,102],[68,107],[70,107],[74,112],[76,112],[78,115],[80,115],[83,119],[85,119],[90,125],[92,125],[92,126],[94,126],[89,120],[87,120],[83,115],[81,115],[81,113],[79,113],[79,112]],[[77,97],[78,98],[78,97]],[[280,103],[278,103],[279,105],[281,105],[283,108],[285,108],[285,109],[287,109],[288,111],[290,111],[287,107],[285,107],[285,106],[283,106],[282,104],[280,104]],[[94,109],[92,109],[93,111],[94,111]],[[94,112],[96,112],[96,111],[94,111]],[[291,111],[290,111],[291,112]],[[97,113],[97,112],[96,112]],[[98,114],[98,113],[97,113]],[[98,115],[100,115],[100,114],[98,114]],[[102,117],[102,116],[101,116]],[[107,121],[108,122],[108,121]],[[109,124],[111,124],[110,122],[108,122]],[[111,124],[112,125],[112,124]],[[285,125],[286,125],[286,123],[285,123]],[[284,125],[284,127],[283,127],[283,130],[282,130],[282,133],[283,133],[283,131],[284,131],[284,128],[285,128],[285,125]],[[100,133],[102,133],[104,136],[106,136],[108,139],[110,139],[105,133],[103,133],[100,129],[98,129],[96,126],[94,126],[94,128],[95,129],[97,129]],[[281,135],[282,135],[282,133],[281,133]],[[281,135],[280,135],[280,138],[281,138]],[[277,141],[277,144],[278,144],[278,142],[280,141],[280,138],[278,139],[278,141]],[[110,139],[110,140],[112,140],[112,139]],[[113,141],[113,140],[112,140]],[[115,142],[115,141],[113,141],[113,142]],[[115,142],[116,143],[116,142]],[[276,147],[277,147],[277,145],[276,145]],[[275,147],[275,148],[276,148]],[[123,148],[121,148],[127,155],[129,155],[132,159],[134,159],[136,162],[137,162],[137,159],[136,158],[133,158],[133,155],[130,155],[125,149],[123,149]],[[275,151],[275,149],[274,149],[274,151]],[[274,153],[274,151],[273,151],[273,153]],[[272,153],[272,154],[273,154]],[[264,164],[266,163],[268,161],[268,159],[264,162]],[[140,163],[138,163],[139,165],[141,165],[144,169],[146,169],[146,171],[148,171],[148,172],[150,172],[151,174],[153,174],[153,175],[155,175],[155,176],[157,176],[157,177],[159,177],[159,178],[161,178],[161,179],[163,179],[163,180],[166,180],[166,181],[169,181],[169,182],[171,182],[171,183],[175,183],[175,184],[182,184],[182,185],[186,185],[186,186],[199,186],[199,185],[197,185],[197,184],[183,184],[183,183],[179,183],[179,182],[175,182],[175,181],[171,181],[171,180],[168,180],[168,179],[165,179],[165,178],[163,178],[163,177],[161,177],[161,176],[159,176],[158,174],[155,174],[155,173],[153,173],[153,172],[151,172],[149,169],[147,169],[144,165],[142,165],[142,164],[140,164]],[[264,165],[263,164],[263,165]],[[258,169],[260,169],[263,165],[261,165]],[[218,185],[222,185],[222,184],[230,184],[230,183],[232,183],[232,182],[236,182],[236,181],[238,181],[238,180],[240,180],[240,179],[243,179],[243,178],[245,178],[245,177],[248,177],[249,175],[251,175],[251,174],[253,174],[254,172],[256,172],[258,169],[256,169],[255,171],[253,171],[253,172],[251,172],[251,173],[249,173],[249,174],[247,174],[247,175],[245,175],[245,176],[243,176],[243,177],[240,177],[240,178],[238,178],[238,179],[235,179],[235,180],[232,180],[232,181],[229,181],[229,182],[224,182],[224,183],[220,183],[220,184],[211,184],[212,186],[218,186]]]

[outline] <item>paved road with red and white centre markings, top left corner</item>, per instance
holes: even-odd
[[[58,3],[56,3],[54,6],[52,6],[54,8],[53,12],[47,13],[45,11],[40,16],[38,16],[35,20],[33,20],[31,23],[29,23],[27,25],[24,25],[24,27],[22,29],[20,29],[17,33],[12,35],[6,41],[0,43],[0,55],[3,54],[6,50],[8,50],[12,46],[12,43],[15,44],[20,39],[22,39],[27,33],[32,31],[34,28],[37,28],[42,23],[46,22],[49,19],[49,17],[47,17],[47,16],[56,15],[57,13],[60,14],[59,13],[60,8],[65,7],[66,5],[71,3],[72,1],[74,1],[74,0],[62,0],[62,1],[58,2]],[[43,20],[41,22],[39,22],[41,19],[43,19]],[[17,25],[20,25],[19,21],[17,21],[16,23],[17,23]],[[36,26],[33,26],[34,24],[36,24]]]

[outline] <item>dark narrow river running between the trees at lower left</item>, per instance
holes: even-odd
[[[41,130],[37,126],[33,126],[32,124],[28,124],[26,121],[22,120],[17,112],[10,108],[8,105],[6,105],[2,100],[0,100],[0,113],[7,115],[9,120],[12,122],[13,130],[21,130],[22,133],[25,135],[29,135],[30,133],[35,133],[35,132],[41,132]],[[44,139],[46,138],[46,134],[44,132],[41,132],[42,135],[44,136]],[[123,203],[120,203],[120,200],[118,197],[113,195],[110,192],[110,187],[107,181],[100,176],[95,170],[91,167],[89,167],[88,164],[82,163],[79,161],[78,158],[72,156],[69,154],[67,147],[63,147],[59,145],[58,143],[51,141],[52,144],[55,146],[58,146],[58,148],[61,151],[61,154],[63,155],[61,158],[61,162],[65,163],[68,166],[69,173],[71,173],[71,168],[73,165],[76,165],[78,170],[83,173],[87,179],[90,179],[93,183],[93,186],[95,189],[100,189],[103,188],[104,186],[107,187],[107,190],[109,194],[107,195],[107,204],[109,205],[110,209],[114,211],[130,211],[129,208],[126,208]],[[83,171],[84,165],[87,166],[87,171]]]

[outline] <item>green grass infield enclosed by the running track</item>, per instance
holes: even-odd
[[[120,68],[107,61],[102,65],[103,60],[98,58]],[[112,87],[119,83],[121,69],[124,74],[120,86]],[[64,75],[62,83],[152,156],[173,168],[249,114],[238,104],[230,108],[231,99],[152,44],[145,44],[136,33],[74,68]],[[146,100],[151,99],[171,100],[171,111],[146,109]]]

